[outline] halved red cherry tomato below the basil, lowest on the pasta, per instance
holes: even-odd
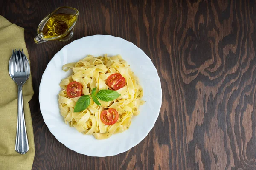
[[[100,119],[105,125],[113,125],[119,118],[119,114],[116,109],[109,108],[108,110],[102,111]]]

